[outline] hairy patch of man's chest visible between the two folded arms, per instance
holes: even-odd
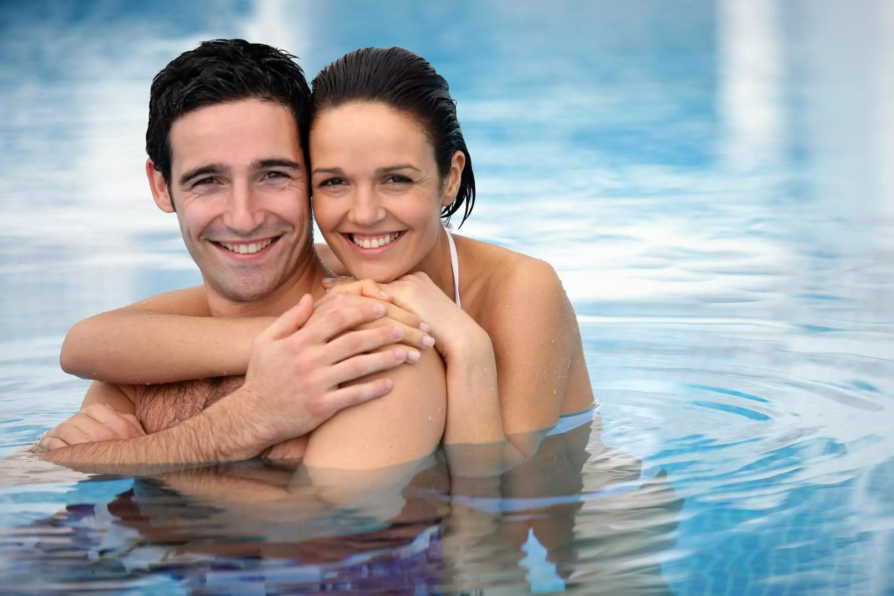
[[[230,395],[244,381],[244,376],[230,376],[137,387],[137,419],[146,432],[164,431]]]

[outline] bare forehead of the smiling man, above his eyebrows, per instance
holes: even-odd
[[[173,122],[173,171],[203,164],[247,167],[276,156],[301,163],[302,151],[291,110],[270,101],[246,99],[207,105]]]

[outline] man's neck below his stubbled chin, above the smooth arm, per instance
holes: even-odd
[[[223,296],[205,282],[205,293],[212,316],[279,316],[298,304],[305,294],[316,301],[325,294],[323,279],[326,271],[316,254],[304,260],[303,266],[264,298],[240,302]]]

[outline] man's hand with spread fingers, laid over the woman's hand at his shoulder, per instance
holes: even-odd
[[[387,378],[344,388],[342,383],[419,359],[416,349],[403,346],[375,351],[403,340],[400,325],[352,331],[381,319],[383,303],[345,295],[328,304],[315,312],[305,296],[280,316],[252,345],[245,384],[212,407],[230,407],[239,400],[251,429],[247,457],[392,390]]]

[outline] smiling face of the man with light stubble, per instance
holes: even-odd
[[[291,110],[258,99],[209,105],[174,121],[170,142],[170,195],[161,174],[149,172],[156,203],[176,207],[186,248],[213,290],[238,302],[265,298],[311,254]]]

